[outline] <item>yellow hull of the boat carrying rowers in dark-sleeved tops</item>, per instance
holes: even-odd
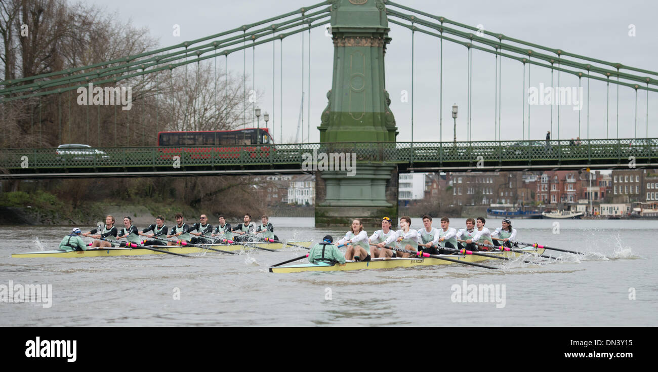
[[[291,244],[296,244],[297,246],[308,247],[311,246],[311,241],[290,241]],[[258,246],[261,248],[268,248],[270,250],[279,250],[286,246],[283,243],[260,243],[254,242],[249,243],[249,246],[243,246],[242,244],[214,244],[208,245],[210,248],[215,248],[216,250],[224,251],[239,251],[239,250],[254,250],[253,246]],[[251,247],[250,247],[251,246]],[[151,248],[157,248],[158,250],[164,250],[167,252],[173,253],[203,253],[209,252],[204,248],[200,247],[180,247],[180,246],[150,246]],[[59,258],[74,258],[74,257],[105,257],[113,255],[147,255],[147,254],[165,254],[163,252],[155,252],[152,250],[145,250],[143,248],[95,248],[86,251],[64,251],[64,250],[52,250],[52,251],[37,251],[37,252],[26,252],[26,253],[12,253],[11,257],[14,258],[43,258],[43,257],[59,257]]]

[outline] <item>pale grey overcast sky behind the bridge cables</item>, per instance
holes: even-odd
[[[451,20],[500,32],[520,40],[538,43],[571,53],[619,62],[647,70],[658,70],[658,34],[653,15],[658,13],[658,3],[649,1],[422,1],[398,0],[398,3],[445,16]],[[86,3],[105,7],[107,11],[118,11],[120,21],[132,19],[134,26],[147,27],[161,46],[174,45],[216,34],[242,24],[249,24],[287,13],[303,6],[313,5],[314,0],[251,0],[251,1],[178,1],[178,0],[114,0],[111,5],[103,0],[86,0]],[[409,13],[396,9],[402,13]],[[172,36],[173,25],[180,25],[181,36]],[[628,36],[628,26],[634,24],[636,36]],[[391,109],[397,120],[397,140],[411,140],[411,99],[400,101],[402,90],[411,94],[411,32],[406,28],[390,24],[392,43],[386,53],[386,88],[392,97]],[[308,33],[305,32],[305,91],[308,90]],[[293,138],[297,129],[299,103],[301,99],[301,36],[286,38],[284,47],[283,76],[283,138]],[[279,51],[276,43],[276,102],[274,107],[275,140],[279,140],[280,95],[279,95]],[[472,95],[472,139],[494,139],[494,65],[495,57],[483,51],[473,52],[473,95]],[[255,82],[257,90],[264,92],[259,106],[272,114],[272,45],[256,47]],[[326,92],[331,88],[333,45],[324,35],[324,28],[311,32],[311,137],[317,142],[316,126],[320,122],[320,111],[326,106]],[[251,50],[246,52],[247,74],[251,75]],[[223,66],[224,57],[217,59]],[[242,74],[242,52],[228,57],[228,68],[234,74]],[[549,69],[533,66],[530,86],[551,84]],[[557,72],[553,86],[557,86]],[[502,113],[501,139],[521,140],[522,126],[522,65],[503,59],[502,65]],[[527,79],[527,77],[526,77]],[[526,86],[528,82],[526,80]],[[585,100],[587,85],[582,80]],[[415,36],[415,92],[414,92],[414,140],[438,141],[439,134],[439,40],[417,33]],[[561,75],[561,86],[578,86],[578,78]],[[646,101],[644,91],[638,91],[638,137],[646,132]],[[304,103],[304,132],[307,136],[307,99]],[[443,42],[443,140],[453,138],[453,120],[450,109],[459,105],[457,140],[466,139],[467,101],[467,49],[448,41]],[[649,137],[658,137],[658,93],[649,93]],[[526,138],[528,111],[526,121]],[[585,103],[581,113],[581,138],[587,138]],[[635,92],[630,88],[619,88],[619,137],[634,137]],[[530,107],[530,136],[543,140],[551,128],[551,107]],[[262,123],[262,120],[261,120]],[[270,119],[270,126],[272,120]],[[569,106],[560,109],[560,138],[578,136],[578,111]],[[553,138],[557,138],[557,107],[553,107]],[[617,136],[617,87],[610,86],[609,136]],[[605,82],[590,81],[590,138],[606,137],[606,87]],[[355,138],[358,140],[358,138]]]

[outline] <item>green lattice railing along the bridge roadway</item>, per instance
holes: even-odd
[[[482,142],[330,142],[243,146],[95,147],[87,149],[3,149],[2,169],[223,167],[301,165],[321,153],[354,153],[375,163],[477,163],[478,161],[628,161],[655,159],[658,139],[482,141]]]

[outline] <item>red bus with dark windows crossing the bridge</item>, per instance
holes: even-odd
[[[171,159],[175,155],[191,160],[211,157],[236,159],[245,153],[251,158],[266,158],[270,155],[270,149],[274,150],[271,148],[273,144],[267,128],[158,133],[158,146],[163,159]]]

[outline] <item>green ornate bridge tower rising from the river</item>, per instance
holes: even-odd
[[[382,0],[334,0],[331,9],[334,76],[322,111],[320,142],[330,151],[353,151],[336,142],[390,142],[397,127],[384,78],[388,18]],[[362,217],[379,225],[397,219],[397,166],[370,163],[357,155],[355,174],[316,173],[316,226],[347,227]],[[394,223],[394,225],[396,225]]]

